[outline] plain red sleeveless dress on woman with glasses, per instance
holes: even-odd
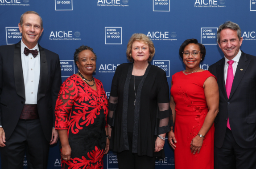
[[[209,71],[172,76],[171,95],[175,102],[175,169],[214,169],[214,125],[203,140],[200,153],[191,153],[191,140],[198,134],[208,113],[203,84]],[[215,77],[215,76],[214,76]],[[216,78],[216,77],[215,77]]]

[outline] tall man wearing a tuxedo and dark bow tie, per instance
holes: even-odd
[[[25,149],[29,169],[46,169],[49,145],[58,140],[53,127],[60,61],[37,43],[44,30],[37,12],[25,12],[19,30],[19,43],[0,46],[2,169],[23,169]]]

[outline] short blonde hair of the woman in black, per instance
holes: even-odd
[[[150,40],[149,37],[146,36],[143,33],[134,33],[132,35],[132,37],[130,38],[130,40],[129,40],[128,44],[127,44],[127,49],[126,49],[127,59],[130,62],[133,62],[133,59],[132,59],[132,56],[130,55],[130,53],[132,53],[132,44],[135,41],[139,41],[139,42],[141,41],[141,42],[144,42],[145,44],[149,45],[150,55],[149,55],[148,61],[150,62],[153,59],[153,56],[155,55],[156,51],[155,51],[155,47],[154,47],[154,44],[153,44],[152,40]]]

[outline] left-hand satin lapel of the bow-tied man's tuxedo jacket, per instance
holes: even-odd
[[[25,84],[21,64],[21,41],[15,44],[13,56],[13,72],[16,92],[25,99]]]

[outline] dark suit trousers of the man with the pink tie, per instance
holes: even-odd
[[[256,148],[240,147],[235,142],[232,131],[227,128],[222,147],[214,147],[214,168],[256,169]]]

